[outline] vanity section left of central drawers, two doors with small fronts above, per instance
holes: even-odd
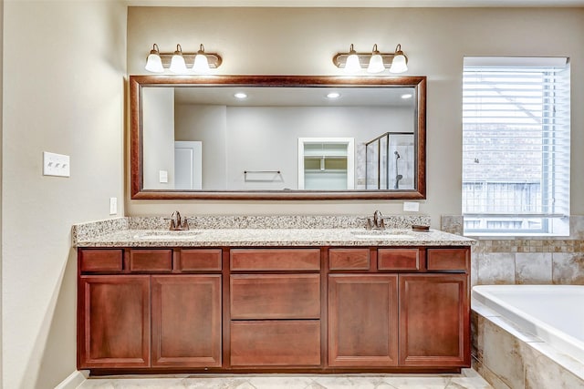
[[[186,254],[180,261],[180,249],[78,250],[79,369],[221,366],[221,267],[203,272],[217,270],[222,251]]]

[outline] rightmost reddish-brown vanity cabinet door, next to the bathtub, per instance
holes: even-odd
[[[400,364],[470,366],[466,274],[400,275]]]

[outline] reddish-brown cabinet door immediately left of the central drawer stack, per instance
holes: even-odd
[[[221,367],[221,275],[152,276],[152,366]]]

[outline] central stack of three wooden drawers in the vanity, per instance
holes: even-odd
[[[320,249],[234,249],[230,263],[230,366],[320,366]]]

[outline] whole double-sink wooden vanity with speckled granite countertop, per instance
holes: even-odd
[[[77,242],[78,369],[470,366],[471,240],[436,230],[179,232],[119,230]]]

